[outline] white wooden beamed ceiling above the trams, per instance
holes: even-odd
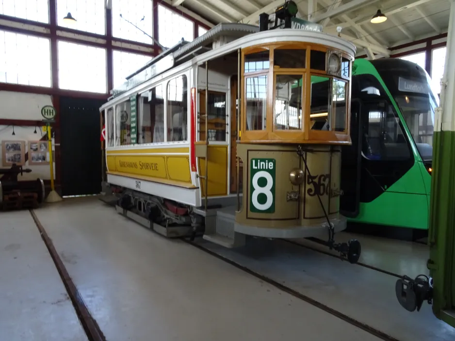
[[[260,13],[273,13],[285,0],[165,0],[210,20],[257,24]],[[390,48],[447,32],[449,0],[294,0],[297,17],[318,22],[324,32],[341,35],[357,46],[357,54],[387,57]],[[183,9],[183,8],[184,9]],[[387,21],[372,24],[380,9]]]

